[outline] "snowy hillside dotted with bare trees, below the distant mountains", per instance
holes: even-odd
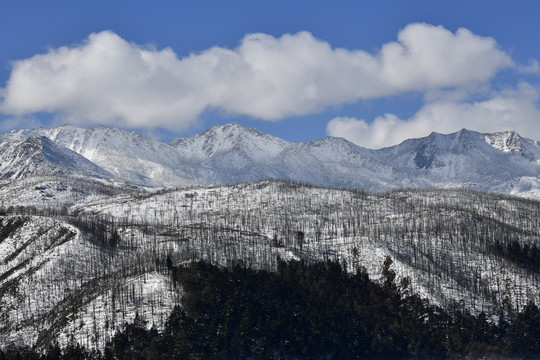
[[[278,257],[332,259],[378,280],[391,256],[398,285],[409,277],[406,291],[446,308],[498,316],[540,303],[534,200],[274,181],[157,191],[95,183],[83,191],[77,181],[0,188],[0,343],[58,338],[102,348],[136,313],[161,328],[181,296],[169,261],[273,270]],[[60,185],[55,202],[24,206]]]

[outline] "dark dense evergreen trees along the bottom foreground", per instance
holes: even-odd
[[[383,285],[337,262],[279,261],[277,272],[206,262],[177,268],[184,289],[165,329],[139,316],[103,354],[77,345],[38,356],[8,347],[4,359],[362,359],[540,355],[540,311],[488,322],[456,306],[448,312],[396,285],[390,259]]]

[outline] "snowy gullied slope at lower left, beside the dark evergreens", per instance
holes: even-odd
[[[133,251],[109,258],[106,247],[65,220],[2,216],[0,229],[2,345],[103,348],[136,313],[161,328],[179,303],[169,276],[122,268]]]

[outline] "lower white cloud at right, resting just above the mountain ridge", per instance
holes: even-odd
[[[395,145],[433,131],[451,133],[463,128],[480,132],[516,130],[540,140],[539,95],[538,89],[521,83],[517,89],[501,91],[484,101],[433,101],[407,120],[392,114],[377,117],[371,123],[350,117],[334,118],[326,132],[367,148]]]

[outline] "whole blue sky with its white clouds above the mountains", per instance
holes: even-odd
[[[538,14],[537,1],[3,1],[0,128],[540,139]]]

